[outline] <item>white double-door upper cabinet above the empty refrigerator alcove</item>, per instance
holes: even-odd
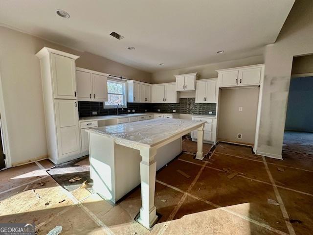
[[[217,70],[219,87],[259,86],[264,76],[264,64]]]

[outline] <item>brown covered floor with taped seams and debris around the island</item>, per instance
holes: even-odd
[[[157,173],[162,216],[152,231],[134,221],[139,187],[113,206],[86,188],[62,188],[47,160],[0,172],[0,223],[34,222],[43,235],[57,225],[61,235],[313,234],[313,155],[284,152],[281,161],[220,143],[206,161],[193,157],[184,153]]]

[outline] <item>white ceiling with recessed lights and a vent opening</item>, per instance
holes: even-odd
[[[155,72],[260,55],[265,45],[275,42],[293,3],[294,0],[1,0],[0,23]],[[59,17],[57,9],[67,11],[70,18]],[[113,38],[112,31],[125,38]],[[217,54],[219,50],[225,52]]]

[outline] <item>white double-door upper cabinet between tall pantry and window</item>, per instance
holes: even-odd
[[[108,74],[76,68],[78,101],[108,101]]]

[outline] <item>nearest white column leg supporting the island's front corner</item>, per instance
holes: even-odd
[[[156,189],[156,149],[140,149],[140,181],[141,181],[141,204],[140,215],[137,221],[147,229],[156,222],[155,189]]]

